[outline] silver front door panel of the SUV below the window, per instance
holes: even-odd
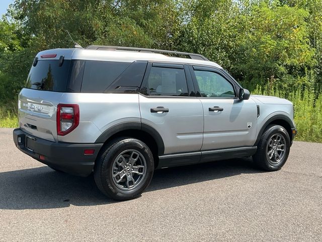
[[[257,133],[257,107],[252,99],[200,98],[204,110],[202,150],[252,146]],[[209,111],[219,106],[223,111]],[[252,123],[248,128],[247,124]]]

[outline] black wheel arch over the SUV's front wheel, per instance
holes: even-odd
[[[292,120],[286,115],[277,114],[277,115],[274,115],[274,116],[270,117],[265,122],[265,124],[262,126],[260,132],[258,133],[257,140],[255,142],[255,146],[258,145],[262,135],[264,134],[266,128],[269,125],[280,125],[280,126],[284,127],[286,129],[289,137],[290,137],[290,140],[292,141],[292,128],[294,128]]]

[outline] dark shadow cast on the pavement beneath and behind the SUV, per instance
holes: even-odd
[[[145,192],[259,172],[251,158],[155,170]],[[50,209],[116,202],[99,191],[93,175],[72,176],[47,166],[0,173],[0,209]]]

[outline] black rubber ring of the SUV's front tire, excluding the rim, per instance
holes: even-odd
[[[276,164],[272,163],[266,155],[267,144],[268,144],[269,140],[271,139],[271,137],[275,134],[282,135],[283,138],[285,139],[285,143],[286,143],[285,144],[285,154],[284,154],[282,160]],[[260,145],[260,153],[261,153],[260,157],[261,157],[261,159],[263,159],[265,161],[265,166],[267,166],[267,168],[269,170],[279,170],[282,168],[282,166],[285,164],[285,162],[288,158],[288,155],[290,152],[290,144],[291,144],[291,141],[290,141],[289,135],[288,135],[287,131],[282,126],[279,126],[279,125],[272,126],[265,132],[265,134],[262,137],[262,142]]]

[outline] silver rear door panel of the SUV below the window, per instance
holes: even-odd
[[[145,97],[139,94],[142,123],[154,128],[165,144],[165,154],[197,151],[203,137],[203,110],[198,98]],[[151,113],[163,106],[169,112]]]

